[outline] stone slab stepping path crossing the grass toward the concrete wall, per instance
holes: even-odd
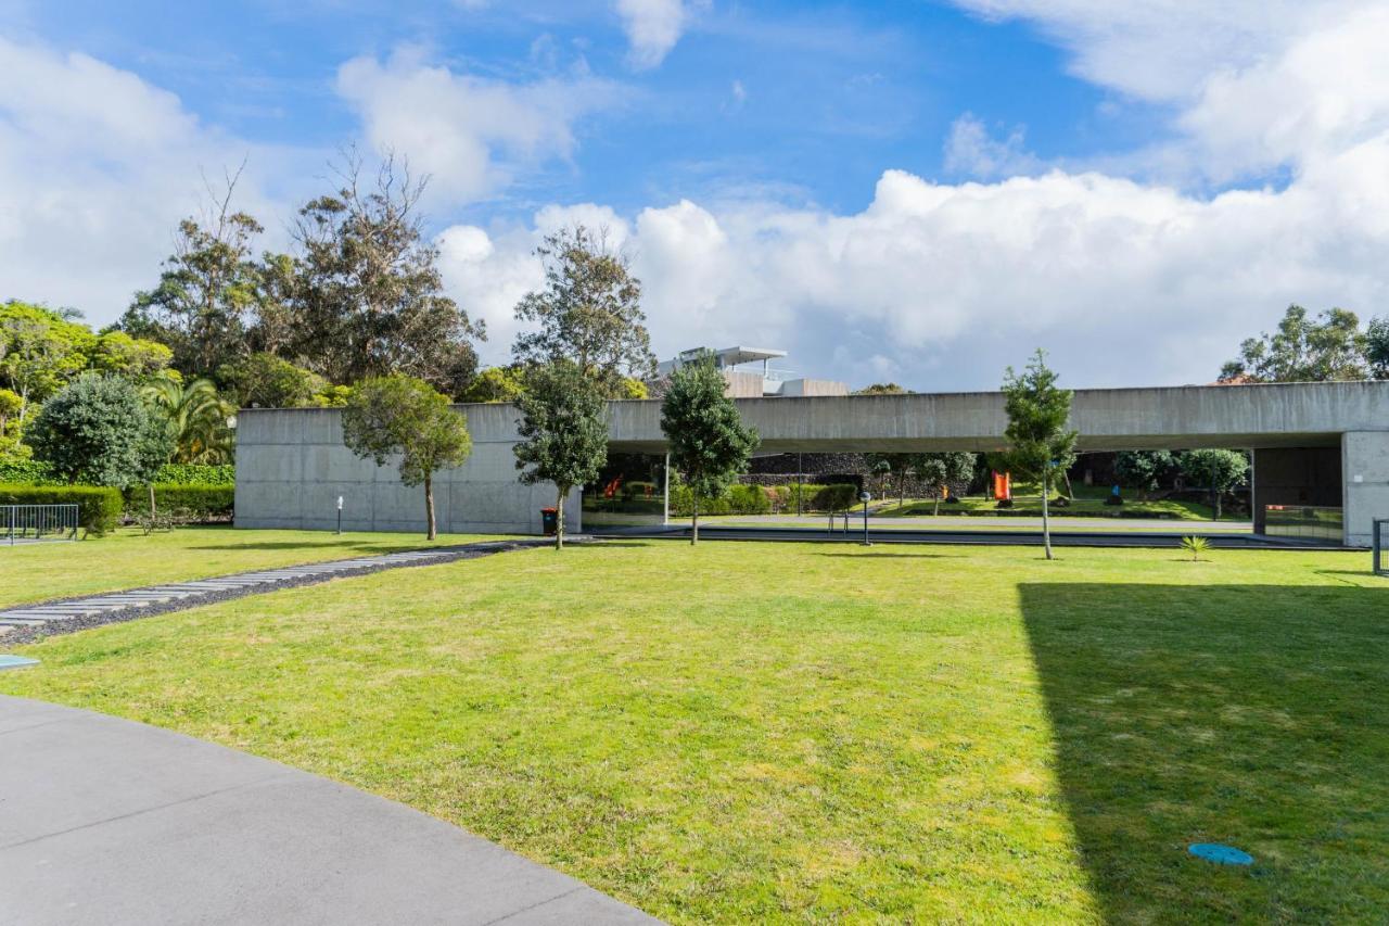
[[[579,538],[574,538],[579,539]],[[436,549],[403,551],[381,556],[358,556],[325,563],[306,563],[267,569],[254,573],[238,573],[186,583],[168,583],[147,588],[131,588],[118,592],[104,592],[88,598],[42,602],[0,609],[0,638],[10,642],[82,630],[106,623],[147,617],[171,610],[183,610],[243,595],[257,595],[276,588],[314,585],[346,576],[361,576],[403,566],[432,566],[460,559],[475,559],[490,553],[513,549],[549,546],[547,539],[488,541],[440,546]]]

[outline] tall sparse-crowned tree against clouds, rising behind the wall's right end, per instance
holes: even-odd
[[[624,377],[656,371],[642,281],[601,234],[583,225],[547,236],[535,253],[544,261],[544,289],[526,293],[515,313],[539,331],[519,334],[511,356],[529,366],[571,360],[604,395],[625,398]]]

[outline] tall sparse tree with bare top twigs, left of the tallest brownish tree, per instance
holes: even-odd
[[[247,331],[261,299],[253,245],[265,229],[232,209],[240,174],[239,168],[228,175],[221,190],[207,185],[201,220],[179,222],[158,285],[138,292],[118,323],[131,335],[167,343],[174,367],[188,377],[211,375],[247,352]]]

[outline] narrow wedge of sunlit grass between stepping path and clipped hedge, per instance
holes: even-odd
[[[474,539],[490,538],[442,534],[438,542]],[[339,537],[328,531],[231,527],[181,527],[149,537],[136,528],[121,528],[74,542],[0,544],[0,608],[422,546],[429,546],[424,534]]]

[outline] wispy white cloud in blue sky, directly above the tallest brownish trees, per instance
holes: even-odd
[[[528,85],[456,74],[418,49],[385,63],[358,57],[338,70],[338,92],[357,110],[367,140],[431,175],[449,203],[494,196],[515,174],[576,146],[574,122],[613,106],[621,92],[586,75]]]

